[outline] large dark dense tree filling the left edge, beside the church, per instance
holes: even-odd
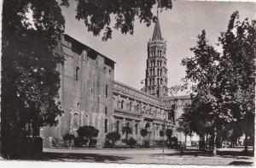
[[[31,17],[29,18],[29,12]],[[25,136],[25,125],[38,135],[40,126],[56,124],[60,87],[55,52],[65,20],[55,0],[3,2],[1,141],[3,157]]]

